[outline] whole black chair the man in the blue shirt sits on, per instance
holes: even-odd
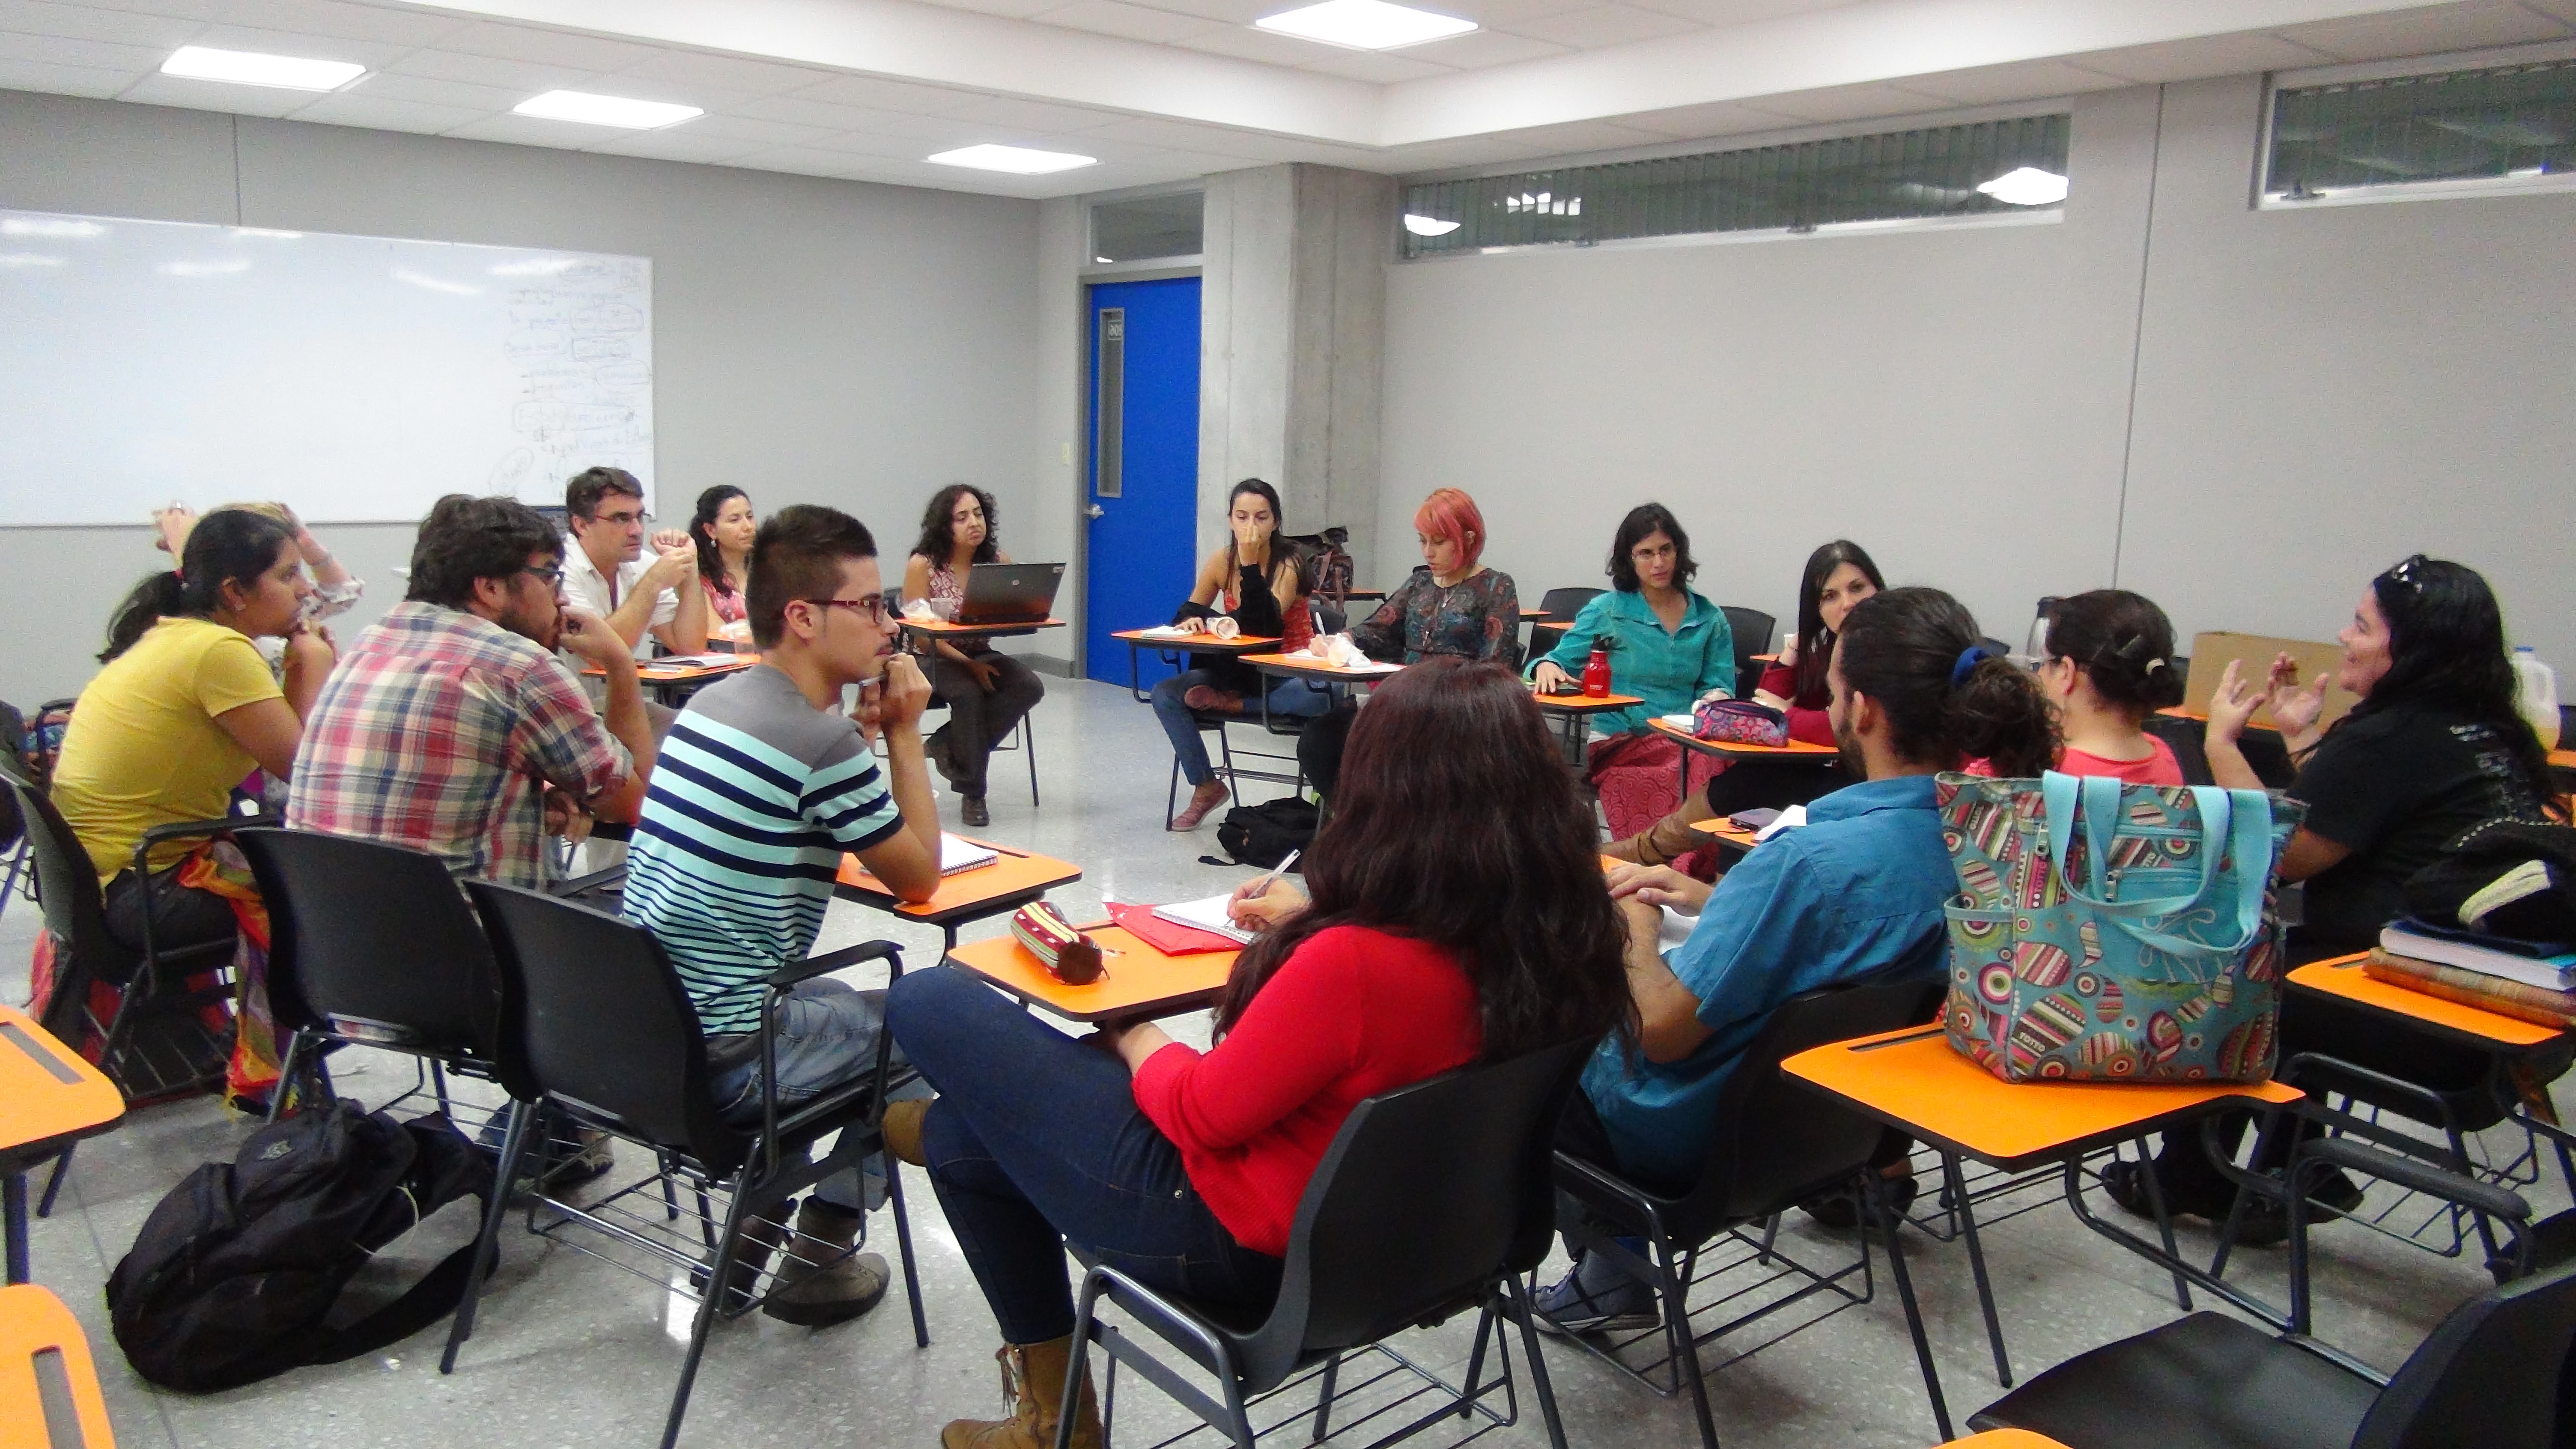
[[[1860,1194],[1860,1201],[1868,1207],[1868,1222],[1878,1230],[1878,1240],[1888,1250],[1888,1269],[1896,1274],[1896,1294],[1906,1310],[1906,1328],[1914,1333],[1914,1359],[1922,1366],[1924,1397],[1932,1403],[1940,1436],[1950,1439],[1950,1408],[1942,1403],[1940,1372],[1932,1366],[1932,1346],[1924,1341],[1922,1312],[1914,1305],[1914,1281],[1906,1274],[1904,1253],[1896,1248],[1896,1217],[1880,1201],[1878,1173],[1870,1168],[1870,1155],[1878,1150],[1886,1129],[1875,1119],[1826,1101],[1780,1070],[1783,1060],[1808,1047],[1929,1021],[1940,1008],[1940,982],[1904,980],[1808,990],[1780,1003],[1752,1044],[1744,1047],[1734,1075],[1728,1075],[1726,1091],[1718,1096],[1716,1132],[1708,1142],[1700,1181],[1682,1196],[1662,1196],[1631,1183],[1602,1163],[1587,1163],[1566,1152],[1556,1155],[1556,1186],[1566,1196],[1561,1217],[1566,1238],[1579,1243],[1584,1253],[1607,1253],[1631,1276],[1651,1284],[1656,1307],[1662,1310],[1659,1328],[1649,1328],[1623,1343],[1610,1343],[1607,1348],[1587,1338],[1574,1338],[1574,1343],[1662,1397],[1690,1390],[1690,1408],[1700,1421],[1700,1441],[1708,1449],[1718,1444],[1718,1426],[1708,1413],[1708,1385],[1700,1379],[1700,1343],[1829,1289],[1855,1305],[1868,1302],[1875,1297],[1875,1284],[1857,1294],[1842,1287],[1852,1274],[1862,1274],[1865,1284],[1870,1281],[1868,1235],[1860,1240],[1857,1263],[1821,1274],[1777,1253],[1770,1232],[1765,1232],[1759,1243],[1749,1240],[1759,1258],[1780,1258],[1788,1271],[1808,1281],[1788,1297],[1692,1336],[1690,1271],[1700,1248],[1718,1235],[1770,1222],[1811,1196],[1844,1186]],[[1643,1238],[1654,1261],[1618,1245],[1615,1238],[1620,1235]],[[1664,1336],[1662,1359],[1643,1369],[1633,1369],[1618,1359],[1620,1348],[1656,1333]],[[1656,1369],[1664,1369],[1664,1382],[1656,1382]]]

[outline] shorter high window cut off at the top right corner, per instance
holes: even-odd
[[[2576,175],[2576,59],[2272,90],[2264,196]]]

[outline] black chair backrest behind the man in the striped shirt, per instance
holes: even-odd
[[[466,892],[500,967],[502,1085],[683,1147],[708,1173],[734,1171],[750,1140],[716,1116],[698,1011],[652,931],[510,884]]]

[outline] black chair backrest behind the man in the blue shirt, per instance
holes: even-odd
[[[1940,980],[1909,975],[1783,1000],[1718,1093],[1708,1163],[1667,1214],[1674,1238],[1698,1240],[1718,1222],[1770,1217],[1857,1173],[1878,1150],[1883,1124],[1793,1080],[1780,1062],[1808,1047],[1932,1021],[1940,998]]]

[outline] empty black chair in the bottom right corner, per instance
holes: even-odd
[[[2550,1449],[2576,1341],[2576,1266],[2488,1289],[2380,1387],[2313,1338],[2215,1312],[2079,1354],[1968,1418],[2069,1449]]]

